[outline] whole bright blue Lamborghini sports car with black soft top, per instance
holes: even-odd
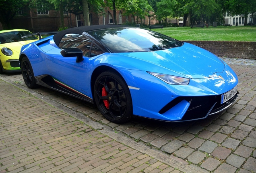
[[[69,28],[23,46],[19,61],[27,87],[94,103],[114,123],[203,119],[237,100],[237,76],[220,58],[142,28]]]

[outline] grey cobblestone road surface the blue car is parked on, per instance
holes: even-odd
[[[144,147],[141,153],[160,151],[171,161],[177,160],[166,164],[175,167],[176,163],[182,163],[184,165],[179,165],[181,171],[188,172],[187,168],[191,168],[190,171],[193,168],[215,173],[256,172],[256,60],[225,58],[225,61],[239,78],[239,100],[222,115],[189,123],[134,118],[118,125],[104,119],[94,105],[46,88],[33,92],[98,122],[104,127],[99,131],[106,135],[116,132],[126,139],[133,139]],[[27,89],[20,74],[1,76]],[[162,157],[158,153],[155,154],[157,159]]]

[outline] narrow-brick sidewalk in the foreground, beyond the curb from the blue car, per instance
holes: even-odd
[[[0,173],[200,172],[79,113],[65,113],[37,93],[1,79],[0,86]]]

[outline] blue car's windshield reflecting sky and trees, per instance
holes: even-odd
[[[141,28],[110,28],[88,32],[111,52],[148,52],[182,46],[182,42]]]

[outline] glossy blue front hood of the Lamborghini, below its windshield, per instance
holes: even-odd
[[[211,52],[193,44],[152,52],[121,53],[183,74],[188,78],[209,78],[223,72],[225,64]],[[149,69],[151,71],[152,69]],[[159,71],[153,71],[159,72]]]

